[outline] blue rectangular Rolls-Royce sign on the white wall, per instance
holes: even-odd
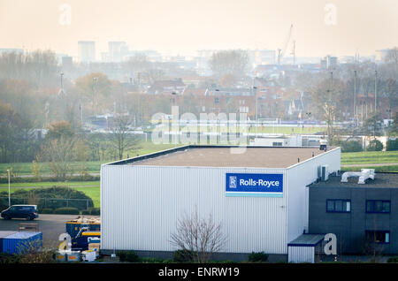
[[[227,197],[283,197],[283,174],[226,173]]]

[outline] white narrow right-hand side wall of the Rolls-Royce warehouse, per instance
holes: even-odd
[[[318,149],[318,148],[314,148]],[[335,148],[327,153],[310,158],[309,160],[295,164],[287,169],[287,240],[297,238],[308,228],[308,193],[306,186],[318,178],[318,166],[329,165],[329,172],[341,169],[341,149]]]

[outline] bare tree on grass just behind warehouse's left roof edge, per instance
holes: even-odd
[[[111,148],[115,152],[114,155],[121,160],[127,150],[134,151],[139,148],[138,140],[128,133],[128,127],[131,125],[131,120],[128,116],[115,115],[111,123]]]

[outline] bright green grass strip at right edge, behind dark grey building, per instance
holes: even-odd
[[[348,164],[398,163],[398,151],[341,153],[341,166]]]

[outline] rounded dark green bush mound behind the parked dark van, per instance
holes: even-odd
[[[1,192],[0,197],[7,197],[7,192]],[[58,209],[63,207],[73,207],[76,209],[87,209],[94,207],[94,203],[86,194],[70,187],[52,186],[34,188],[30,190],[19,189],[11,194],[11,205],[15,204],[34,204],[41,212],[42,209]],[[20,198],[20,199],[19,199]],[[34,199],[34,202],[23,198]],[[44,200],[44,198],[46,200]],[[72,199],[66,201],[65,199]],[[1,203],[1,202],[0,202]]]

